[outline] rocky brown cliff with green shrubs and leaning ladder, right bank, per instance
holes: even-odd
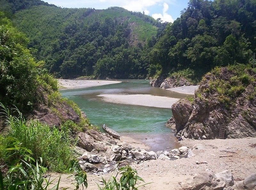
[[[182,99],[172,106],[177,137],[215,139],[221,124],[225,138],[255,137],[255,76],[255,70],[241,65],[205,75],[192,105]]]

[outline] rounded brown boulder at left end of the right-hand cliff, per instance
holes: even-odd
[[[177,132],[184,129],[192,109],[192,103],[186,99],[180,99],[172,105],[172,114]]]

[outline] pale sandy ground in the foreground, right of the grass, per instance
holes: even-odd
[[[203,173],[205,170],[220,172],[231,170],[235,183],[243,180],[246,176],[256,171],[256,148],[249,146],[249,143],[256,143],[256,138],[250,139],[214,139],[214,140],[183,140],[182,145],[192,148],[195,144],[203,145],[202,150],[193,150],[195,156],[190,158],[181,158],[178,160],[150,160],[140,164],[132,164],[132,168],[138,171],[140,177],[145,183],[151,184],[142,186],[143,190],[162,190],[162,189],[179,189],[179,182],[192,178],[195,174]],[[224,152],[223,152],[224,151]],[[232,151],[229,153],[225,151]],[[229,157],[220,157],[220,155],[232,155]],[[196,162],[208,162],[196,164]],[[88,190],[98,189],[97,183],[101,177],[108,179],[115,172],[104,174],[102,176],[88,173]],[[59,174],[52,174],[52,178],[58,177]],[[61,178],[60,189],[72,187],[72,177],[64,174]],[[72,189],[70,188],[70,189]]]

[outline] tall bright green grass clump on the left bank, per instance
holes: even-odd
[[[5,125],[10,129],[8,134],[4,135],[4,139],[0,142],[2,146],[8,148],[12,145],[12,139],[17,139],[22,143],[23,147],[31,150],[32,157],[42,157],[43,165],[51,171],[64,172],[73,159],[73,148],[76,144],[75,139],[70,135],[70,130],[63,126],[59,130],[56,127],[50,128],[46,124],[38,121],[26,122],[22,114],[16,110],[17,117],[9,113],[9,110],[1,105],[4,112]],[[0,150],[0,155],[5,155],[4,150]],[[12,159],[4,156],[5,162],[10,162]]]

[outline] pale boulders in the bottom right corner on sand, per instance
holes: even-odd
[[[182,190],[235,190],[255,189],[256,173],[234,184],[234,178],[229,170],[219,173],[206,171],[194,176],[194,178],[180,182]]]

